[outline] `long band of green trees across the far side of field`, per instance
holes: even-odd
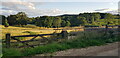
[[[18,12],[15,15],[0,15],[2,25],[7,26],[25,26],[33,24],[40,27],[58,28],[58,27],[73,27],[85,25],[118,25],[120,15],[110,13],[80,13],[79,15],[64,14],[59,16],[38,16],[28,17],[25,12]]]

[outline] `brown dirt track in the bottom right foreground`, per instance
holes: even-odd
[[[40,54],[36,56],[118,56],[118,42],[108,43],[103,46],[92,46],[88,48],[69,49],[55,53]]]

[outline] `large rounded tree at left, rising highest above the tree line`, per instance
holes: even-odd
[[[27,25],[28,17],[24,12],[18,12],[16,15],[10,15],[7,17],[8,23],[11,26],[14,25]]]

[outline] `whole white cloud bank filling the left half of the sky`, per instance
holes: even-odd
[[[63,14],[64,11],[60,9],[39,9],[37,5],[43,3],[32,3],[22,2],[19,0],[12,0],[14,2],[2,2],[2,8],[0,9],[1,14],[10,15],[16,14],[17,12],[25,12],[28,16],[40,16],[40,15],[59,15]]]

